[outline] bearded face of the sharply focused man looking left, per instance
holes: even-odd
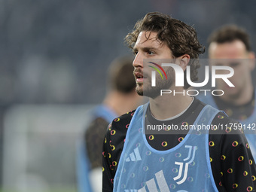
[[[159,59],[158,65],[161,65],[160,59],[172,59],[172,51],[166,44],[157,40],[157,32],[140,32],[133,52],[136,54],[133,60],[134,76],[136,78],[136,91],[142,96],[155,98],[160,95],[160,90],[169,89],[174,80],[174,71],[172,68],[164,69],[168,80],[162,80],[160,75],[156,77],[156,87],[151,87],[151,68],[143,63],[144,59]]]

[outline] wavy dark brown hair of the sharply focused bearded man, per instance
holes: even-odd
[[[167,44],[172,51],[173,57],[177,58],[188,54],[190,56],[188,65],[190,66],[191,81],[198,80],[197,69],[200,67],[198,57],[205,52],[205,47],[199,43],[197,32],[192,26],[188,26],[166,14],[159,12],[148,13],[142,20],[137,21],[133,32],[128,33],[124,38],[131,49],[133,49],[139,33],[142,31],[157,32],[157,40]],[[187,83],[186,75],[184,75],[184,89],[188,87],[190,85]]]

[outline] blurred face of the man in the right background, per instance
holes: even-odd
[[[235,87],[229,87],[223,80],[216,80],[218,90],[225,90],[225,95],[236,99],[246,86],[251,86],[251,70],[254,62],[242,41],[236,40],[223,44],[212,42],[209,46],[209,59],[213,66],[230,66],[234,75],[229,78]],[[218,74],[224,72],[219,71]]]

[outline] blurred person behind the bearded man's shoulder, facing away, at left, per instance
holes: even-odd
[[[105,99],[101,105],[94,108],[91,122],[84,132],[78,158],[80,192],[102,190],[102,141],[108,124],[115,117],[132,111],[141,103],[142,97],[136,93],[133,76],[133,56],[114,59],[108,68]]]

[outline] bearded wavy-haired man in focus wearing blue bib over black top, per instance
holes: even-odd
[[[235,123],[182,94],[190,87],[187,81],[184,87],[175,86],[177,68],[185,71],[190,66],[191,81],[197,79],[197,58],[204,50],[195,30],[166,14],[149,13],[136,23],[126,42],[136,54],[136,91],[148,96],[149,103],[111,123],[103,144],[102,190],[254,190],[255,164],[242,131],[186,129]],[[155,73],[161,59],[166,66],[175,64],[173,69],[163,67],[164,81]],[[175,94],[161,95],[162,90]],[[169,129],[161,130],[160,125]]]

